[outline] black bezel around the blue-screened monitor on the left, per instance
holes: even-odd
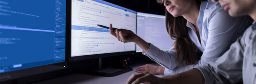
[[[67,19],[67,13],[68,13],[68,9],[67,9],[67,5],[69,0],[66,0],[66,30],[69,29],[69,27],[67,26],[67,23],[69,23],[69,20]],[[67,36],[66,36],[67,38]],[[66,39],[67,41],[67,39]],[[65,46],[67,45],[67,42],[65,43]],[[65,49],[67,49],[65,47]],[[53,64],[46,64],[46,65],[42,65],[42,66],[36,66],[36,67],[31,67],[31,68],[26,68],[26,69],[20,69],[20,70],[16,70],[16,71],[10,71],[10,72],[2,72],[0,73],[0,83],[2,82],[6,82],[6,81],[14,81],[23,77],[28,77],[28,76],[36,76],[39,75],[41,73],[46,73],[46,72],[54,72],[54,71],[58,71],[58,70],[64,70],[68,68],[68,54],[69,52],[67,52],[67,50],[65,50],[65,61],[63,62],[58,62],[58,63],[53,63]],[[57,67],[56,67],[57,66]],[[52,69],[49,67],[56,67],[56,69]],[[40,80],[40,79],[39,79]],[[31,82],[33,82],[33,80],[31,80]]]

